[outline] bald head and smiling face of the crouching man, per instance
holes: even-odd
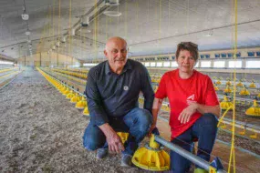
[[[127,62],[127,44],[124,40],[114,39],[109,41],[104,51],[112,70],[122,69]]]

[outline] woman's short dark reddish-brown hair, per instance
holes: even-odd
[[[192,42],[181,42],[177,46],[177,51],[175,53],[176,58],[179,57],[181,50],[188,50],[191,52],[192,56],[194,57],[195,61],[198,60],[199,57],[199,51],[198,51],[198,45],[192,43]]]

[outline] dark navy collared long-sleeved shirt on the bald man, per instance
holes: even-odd
[[[128,59],[120,75],[111,71],[108,61],[92,67],[86,86],[91,123],[100,126],[109,123],[109,117],[123,117],[139,107],[140,91],[144,108],[151,112],[154,98],[151,78],[140,62]]]

